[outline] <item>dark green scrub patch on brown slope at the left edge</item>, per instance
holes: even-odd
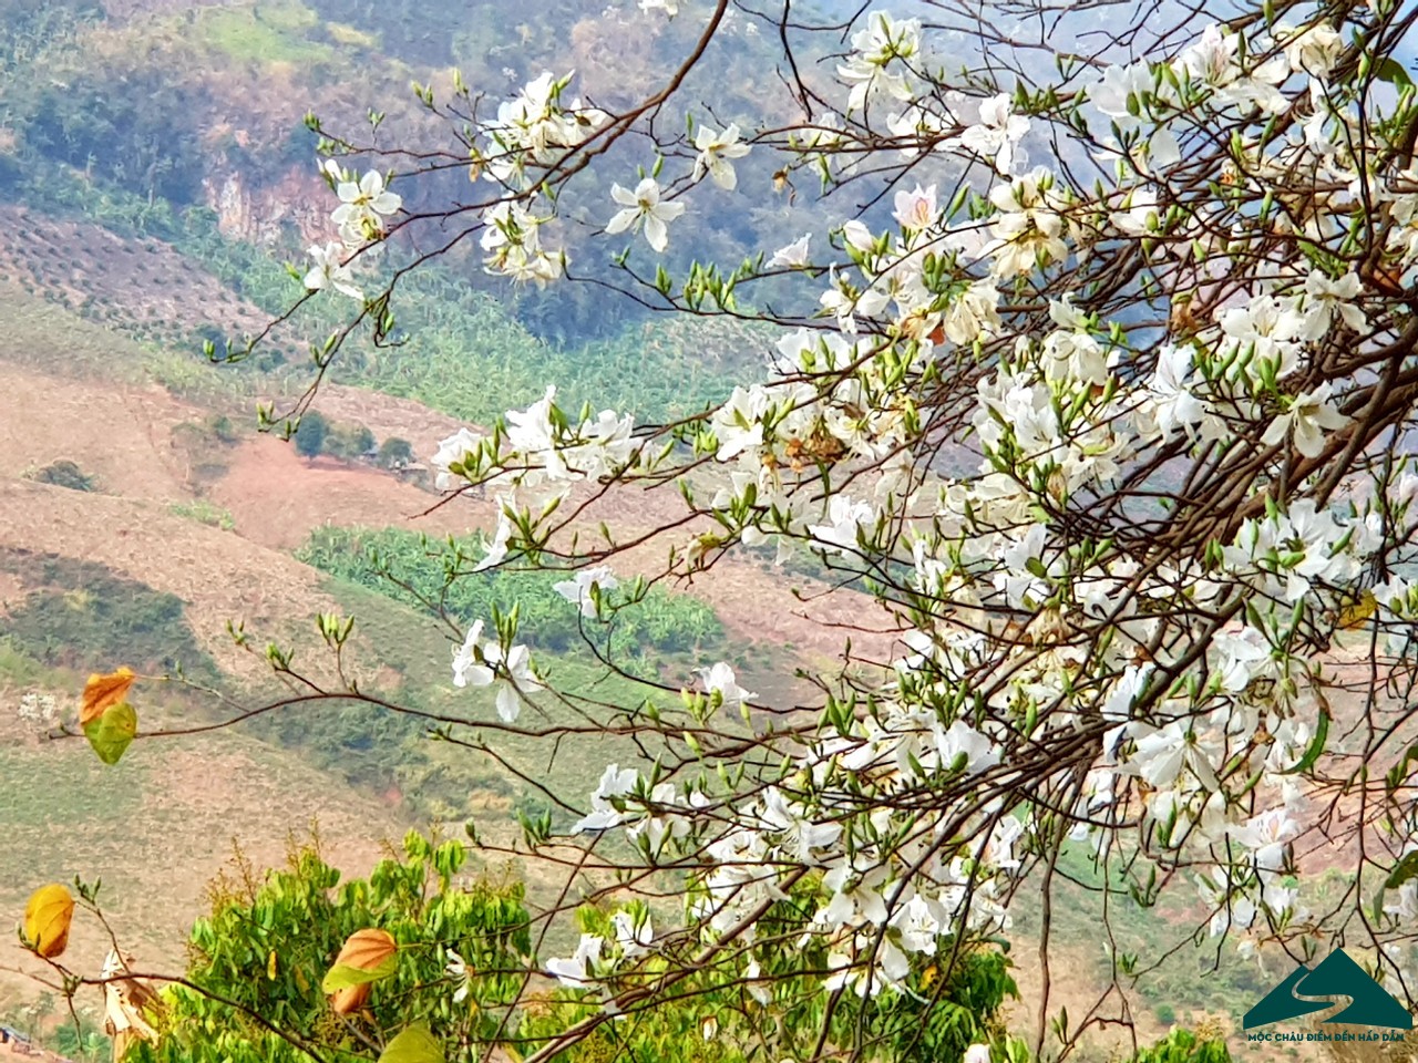
[[[17,577],[26,592],[0,607],[0,638],[41,665],[108,672],[125,663],[138,672],[217,675],[173,594],[94,561],[30,550],[0,550],[0,573]]]

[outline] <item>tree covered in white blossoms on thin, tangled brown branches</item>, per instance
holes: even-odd
[[[1044,906],[1039,1050],[1066,846],[1116,884],[1105,935],[1119,904],[1200,896],[1201,934],[1296,958],[1344,944],[1411,1001],[1418,106],[1401,57],[1418,9],[1163,6],[1132,26],[1132,4],[797,7],[642,0],[623,14],[691,20],[698,44],[615,113],[547,72],[491,105],[420,89],[448,120],[437,149],[322,129],[339,238],[312,248],[305,286],[353,302],[320,366],[357,327],[389,337],[406,272],[472,241],[516,281],[777,329],[763,373],[702,415],[567,410],[547,381],[491,434],[447,439],[440,486],[498,500],[479,567],[566,570],[591,625],[645,580],[815,554],[899,643],[864,659],[844,632],[813,704],[705,662],[617,709],[556,689],[515,615],[467,632],[450,680],[498,686],[496,719],[441,723],[493,753],[498,734],[550,750],[590,733],[644,754],[535,780],[576,822],[527,821],[526,846],[569,882],[598,873],[600,914],[529,969],[584,1006],[539,1018],[523,1059],[709,996],[726,1043],[767,1016],[761,1059],[912,1059],[891,1016],[929,1005],[1025,893]],[[780,98],[730,122],[681,86],[735,20],[780,43]],[[454,169],[457,204],[406,210]],[[665,268],[696,213],[764,198],[820,231]],[[587,227],[601,262],[566,252]],[[654,534],[583,522],[642,492],[681,514]],[[618,567],[651,537],[659,571]],[[542,699],[577,723],[546,726]],[[1306,860],[1350,876],[1339,900],[1306,896]],[[683,903],[651,920],[645,896]],[[1160,960],[1115,952],[1115,979]],[[1066,1045],[1099,1018],[1054,1029]]]

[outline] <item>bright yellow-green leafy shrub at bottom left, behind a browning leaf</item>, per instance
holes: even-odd
[[[167,989],[162,1042],[139,1045],[128,1060],[306,1063],[296,1045],[247,1013],[296,1043],[319,1046],[325,1059],[364,1057],[356,1025],[336,1020],[320,981],[343,941],[366,928],[398,943],[397,972],[376,984],[364,1005],[377,1029],[418,1018],[448,1043],[493,1039],[499,1009],[522,984],[499,972],[515,971],[532,952],[529,917],[520,884],[455,886],[465,859],[458,842],[432,845],[410,833],[401,859],[340,884],[339,870],[315,846],[294,852],[284,870],[264,879],[238,857],[235,874],[210,889],[211,914],[191,931],[189,978],[220,1001],[186,986]],[[448,950],[475,972],[465,1006],[448,1006]]]

